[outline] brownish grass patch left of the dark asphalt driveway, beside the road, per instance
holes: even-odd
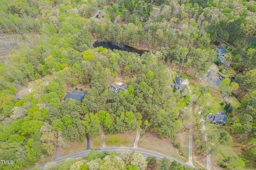
[[[86,147],[87,147],[86,137],[84,138],[84,141],[74,141],[69,143],[68,145],[69,146],[67,148],[60,148],[60,156],[65,156],[65,155],[86,150]]]

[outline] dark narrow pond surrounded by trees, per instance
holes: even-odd
[[[138,49],[138,48],[134,48],[134,47],[130,47],[124,44],[117,44],[117,43],[111,43],[111,42],[106,42],[106,41],[96,41],[93,44],[93,47],[104,47],[104,48],[108,48],[108,49],[118,49],[118,50],[123,50],[126,52],[132,52],[132,53],[138,53],[139,55],[142,55],[144,52],[148,52],[148,50],[143,50],[143,49]]]

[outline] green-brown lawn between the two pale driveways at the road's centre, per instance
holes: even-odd
[[[105,134],[106,146],[133,147],[136,133],[136,131],[131,131],[116,134]]]

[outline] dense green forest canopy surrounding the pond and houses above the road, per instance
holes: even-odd
[[[163,4],[154,19],[151,3]],[[104,18],[93,18],[98,11]],[[22,169],[53,155],[56,145],[97,138],[100,123],[109,134],[150,123],[148,131],[175,141],[191,96],[188,89],[173,91],[166,64],[199,79],[214,62],[215,41],[236,47],[231,64],[243,105],[231,131],[253,142],[255,28],[255,1],[2,0],[0,33],[21,35],[26,43],[0,58],[0,157],[15,162],[0,168]],[[149,51],[140,56],[93,48],[96,40]],[[111,92],[109,85],[120,78],[128,88]],[[83,101],[63,100],[81,84]],[[29,93],[20,95],[26,87]],[[255,150],[252,143],[254,158]]]

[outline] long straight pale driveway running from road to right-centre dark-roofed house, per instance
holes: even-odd
[[[188,164],[193,166],[193,155],[192,155],[192,140],[193,140],[193,113],[192,113],[192,92],[190,87],[188,86],[189,94],[190,94],[190,106],[189,106],[189,115],[190,115],[190,126],[189,126],[189,150],[188,150]]]

